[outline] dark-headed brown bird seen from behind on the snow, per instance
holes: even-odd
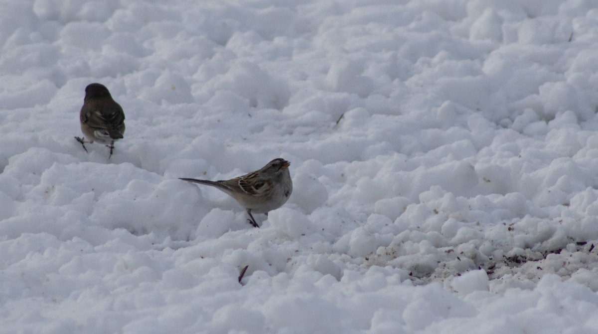
[[[124,134],[123,108],[112,99],[108,88],[102,84],[89,84],[85,87],[85,99],[79,114],[81,131],[87,138],[75,137],[87,152],[86,143],[94,140],[105,143],[110,141],[110,156],[114,150],[114,140],[121,139]]]

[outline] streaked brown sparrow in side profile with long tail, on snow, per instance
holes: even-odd
[[[226,192],[247,210],[249,223],[260,227],[251,212],[266,213],[281,207],[291,196],[293,182],[288,161],[276,158],[266,166],[230,180],[197,180],[181,177],[181,180],[210,185]]]

